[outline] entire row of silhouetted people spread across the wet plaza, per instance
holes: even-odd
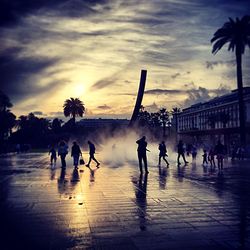
[[[96,163],[96,167],[99,168],[100,162],[95,158],[96,148],[93,142],[88,141],[88,147],[89,147],[89,159],[88,163],[86,164],[87,167],[90,167],[90,163],[94,161]],[[143,173],[143,166],[145,173],[148,174],[148,163],[147,163],[147,152],[150,152],[147,149],[147,141],[146,136],[141,137],[136,141],[138,147],[137,147],[137,155],[138,155],[138,163],[139,163],[139,170],[140,173]],[[113,149],[114,145],[112,146]],[[220,140],[218,140],[216,145],[210,145],[209,147],[204,147],[203,149],[199,147],[199,150],[202,150],[202,155],[199,157],[202,157],[202,165],[204,167],[209,166],[213,169],[218,167],[219,171],[223,170],[223,161],[227,157],[228,150],[227,148],[221,143]],[[29,144],[17,144],[16,145],[16,152],[28,152],[30,150]],[[166,163],[166,166],[169,167],[169,161],[168,161],[168,151],[165,141],[161,141],[158,145],[159,150],[159,160],[158,165],[161,166],[161,161],[163,160]],[[188,161],[186,160],[186,157],[191,156],[192,162],[195,163],[197,159],[198,154],[198,147],[193,144],[185,144],[182,140],[178,142],[176,145],[176,151],[177,151],[177,165],[181,165],[181,159],[183,160],[184,165],[188,164]],[[200,151],[199,151],[200,152]],[[71,146],[71,157],[73,158],[73,165],[76,169],[78,169],[78,165],[85,164],[84,159],[82,157],[82,152],[80,149],[80,146],[77,144],[76,141],[73,142]],[[50,155],[50,162],[52,165],[55,165],[57,161],[57,157],[61,160],[62,168],[66,168],[66,157],[69,154],[69,146],[64,141],[61,140],[58,145],[50,146],[49,148],[49,155]],[[243,160],[245,155],[244,147],[236,147],[234,146],[231,149],[231,156],[232,161],[234,159]]]

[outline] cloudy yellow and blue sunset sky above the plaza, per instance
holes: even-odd
[[[17,115],[63,116],[80,98],[86,118],[130,118],[141,69],[143,106],[188,107],[236,88],[235,56],[211,53],[228,17],[249,0],[0,0],[0,86]],[[249,49],[243,56],[250,86]]]

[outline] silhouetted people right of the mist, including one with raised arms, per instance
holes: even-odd
[[[147,141],[146,141],[146,137],[143,136],[142,138],[140,138],[139,140],[136,141],[136,143],[138,144],[138,148],[137,148],[137,154],[138,154],[138,161],[139,161],[139,169],[140,172],[143,173],[143,167],[142,167],[142,163],[144,163],[144,168],[145,168],[145,173],[148,174],[148,164],[147,164],[147,151],[149,151],[147,149]],[[159,166],[161,165],[161,159],[163,159],[167,165],[167,167],[169,167],[169,162],[167,161],[166,157],[168,157],[167,155],[167,148],[166,148],[166,144],[164,141],[162,141],[159,146]],[[177,164],[178,166],[181,165],[180,162],[180,158],[182,157],[184,164],[186,165],[188,163],[188,161],[186,160],[185,157],[185,146],[182,140],[179,141],[178,145],[177,145]],[[149,151],[150,152],[150,151]],[[192,154],[192,158],[193,161],[196,160],[196,156],[197,156],[197,148],[195,146],[192,146],[192,148],[189,149],[188,155],[191,152]],[[222,170],[223,169],[223,159],[225,156],[225,146],[221,143],[221,141],[219,140],[217,145],[214,147],[214,149],[210,149],[209,153],[207,152],[207,150],[203,151],[203,165],[208,164],[208,161],[211,164],[211,167],[216,167],[215,164],[215,156],[217,156],[217,161],[218,161],[218,169]]]

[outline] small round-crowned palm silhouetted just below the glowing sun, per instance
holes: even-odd
[[[77,116],[82,117],[85,112],[83,102],[79,98],[70,98],[64,102],[63,112],[66,117],[72,116],[73,122]]]

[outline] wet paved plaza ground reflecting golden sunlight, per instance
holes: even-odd
[[[68,157],[62,171],[44,153],[2,156],[0,249],[250,249],[250,162],[170,163],[140,176],[135,161]]]

